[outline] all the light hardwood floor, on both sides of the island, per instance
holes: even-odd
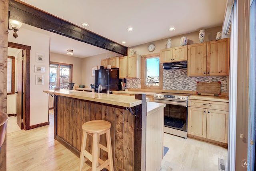
[[[79,158],[54,140],[54,115],[50,125],[20,130],[16,117],[7,127],[7,171],[77,171]],[[191,138],[164,133],[169,150],[162,161],[162,171],[218,171],[218,157],[227,159],[227,149]],[[87,169],[86,166],[84,168]]]

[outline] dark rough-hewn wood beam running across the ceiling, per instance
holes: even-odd
[[[124,56],[127,47],[15,0],[9,0],[10,19],[41,28]]]

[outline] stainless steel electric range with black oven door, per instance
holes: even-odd
[[[157,93],[154,102],[165,103],[164,132],[187,137],[188,96],[182,93]]]

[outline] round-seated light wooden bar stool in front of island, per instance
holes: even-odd
[[[82,125],[83,138],[82,147],[80,152],[79,171],[82,171],[84,162],[90,160],[92,162],[92,171],[100,171],[107,168],[110,171],[114,171],[113,159],[112,159],[112,147],[110,138],[111,123],[104,120],[88,121]],[[106,133],[107,147],[99,143],[100,135]],[[86,151],[86,139],[87,134],[92,136],[92,154]],[[103,161],[99,157],[100,150],[103,149],[108,153],[108,159]],[[100,165],[99,165],[100,164]]]

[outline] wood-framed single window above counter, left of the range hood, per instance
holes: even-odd
[[[162,75],[160,54],[142,56],[141,88],[162,89]]]

